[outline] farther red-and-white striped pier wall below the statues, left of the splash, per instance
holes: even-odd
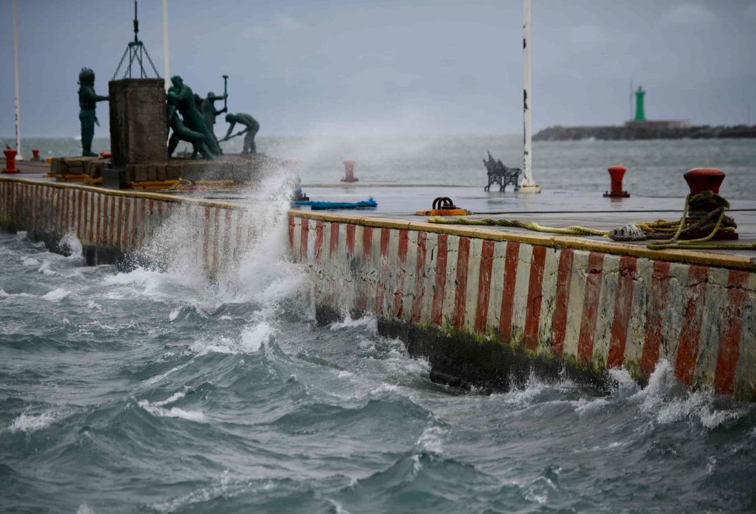
[[[233,203],[79,184],[0,179],[0,228],[26,231],[52,250],[67,235],[89,264],[144,258],[150,241],[173,237],[197,268],[217,274],[246,250],[252,229]]]

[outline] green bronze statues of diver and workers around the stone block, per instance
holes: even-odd
[[[211,91],[206,98],[202,98],[184,84],[180,76],[172,77],[171,84],[166,94],[166,121],[168,128],[172,131],[168,140],[169,157],[175,152],[179,141],[187,141],[192,145],[192,159],[197,159],[198,155],[205,159],[215,159],[223,153],[220,141],[228,141],[240,135],[244,136],[242,153],[256,153],[255,135],[260,129],[260,124],[249,114],[226,114],[226,122],[229,124],[228,132],[220,141],[215,137],[216,116],[228,113],[228,107],[225,104],[228,93],[216,95]],[[79,73],[79,86],[82,156],[97,156],[91,151],[92,138],[95,137],[95,123],[99,125],[95,107],[97,102],[108,101],[110,98],[95,93],[95,72],[89,68],[82,68]],[[221,110],[215,110],[215,101],[218,100],[224,101],[224,107]],[[237,124],[243,125],[244,128],[233,134]]]

